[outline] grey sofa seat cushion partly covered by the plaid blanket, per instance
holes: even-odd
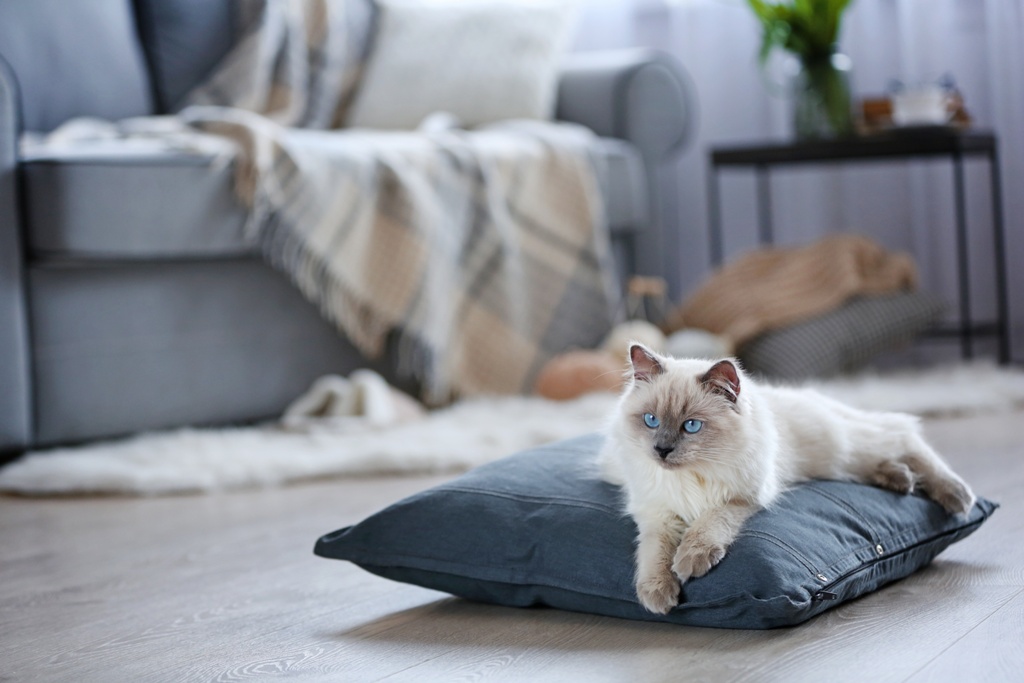
[[[39,150],[27,156],[28,243],[34,258],[178,259],[258,253],[253,239],[246,237],[247,214],[233,194],[229,158],[138,142],[115,140],[88,151]],[[636,148],[599,138],[594,154],[612,229],[643,226],[647,183]]]

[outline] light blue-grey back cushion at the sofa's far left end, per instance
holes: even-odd
[[[131,0],[0,0],[0,56],[26,130],[155,111]]]

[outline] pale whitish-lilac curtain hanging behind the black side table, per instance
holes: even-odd
[[[647,45],[671,52],[692,76],[699,132],[664,180],[670,213],[667,275],[677,295],[708,273],[708,153],[715,145],[783,140],[790,102],[773,94],[783,59],[758,66],[760,27],[743,0],[584,2],[575,48]],[[855,96],[889,83],[951,76],[974,125],[998,135],[1010,261],[1015,357],[1024,354],[1024,0],[854,0],[840,49],[853,61]],[[995,312],[986,164],[968,162],[973,307]],[[753,173],[721,176],[727,257],[756,246]],[[943,161],[807,166],[772,174],[775,238],[802,244],[829,231],[868,234],[912,252],[923,285],[955,314],[952,171]]]

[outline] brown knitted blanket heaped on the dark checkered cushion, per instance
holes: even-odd
[[[799,249],[759,250],[721,268],[676,311],[673,327],[701,328],[739,346],[857,295],[913,289],[916,280],[906,254],[836,234]]]

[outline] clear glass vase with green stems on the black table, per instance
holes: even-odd
[[[850,58],[840,52],[803,59],[793,79],[793,128],[799,139],[853,133]]]

